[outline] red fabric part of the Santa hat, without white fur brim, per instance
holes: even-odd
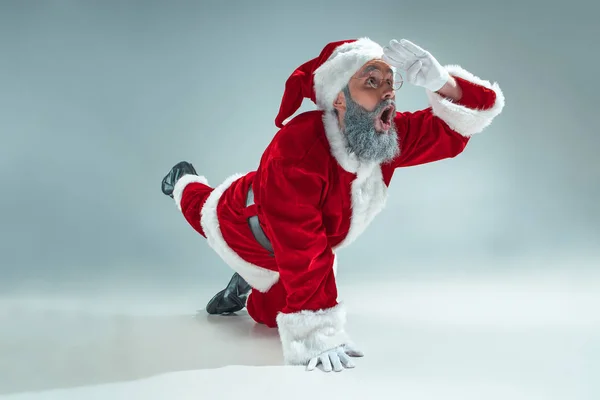
[[[279,113],[275,118],[275,125],[278,128],[283,127],[283,121],[293,115],[302,105],[302,101],[307,98],[316,103],[314,90],[315,71],[333,54],[333,51],[341,44],[351,43],[355,40],[341,40],[329,43],[323,48],[318,57],[305,62],[292,73],[285,83],[285,91],[281,99]]]

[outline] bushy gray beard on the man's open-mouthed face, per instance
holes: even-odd
[[[346,95],[346,113],[344,115],[344,135],[346,148],[359,160],[365,162],[384,163],[392,160],[400,152],[398,134],[392,118],[392,126],[387,133],[375,130],[375,118],[381,110],[393,100],[382,101],[373,111],[368,111],[357,104],[350,95],[348,86],[344,88]]]

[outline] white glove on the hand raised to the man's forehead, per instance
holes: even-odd
[[[393,39],[383,48],[383,60],[406,71],[406,80],[437,92],[450,79],[450,74],[427,50],[409,40]]]

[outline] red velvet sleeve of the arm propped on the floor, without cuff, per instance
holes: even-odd
[[[285,314],[337,305],[334,254],[321,214],[326,190],[322,169],[315,162],[279,159],[270,162],[263,176],[261,214],[287,292]]]

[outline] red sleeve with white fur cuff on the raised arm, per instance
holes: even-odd
[[[393,162],[394,168],[456,157],[465,149],[472,134],[491,122],[495,113],[488,110],[497,106],[497,90],[461,77],[454,76],[454,79],[462,90],[460,101],[430,93],[432,107],[396,113],[394,122],[401,152]]]

